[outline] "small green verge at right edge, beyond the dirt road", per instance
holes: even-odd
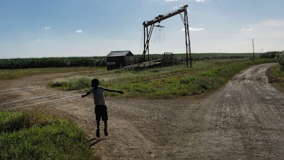
[[[280,92],[284,92],[284,70],[280,65],[275,65],[268,69],[267,72],[269,82]]]

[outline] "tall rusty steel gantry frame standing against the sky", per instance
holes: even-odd
[[[182,14],[183,13],[183,14]],[[170,12],[169,14],[165,15],[159,15],[156,16],[151,21],[144,21],[143,27],[144,27],[144,50],[142,55],[142,60],[146,60],[146,53],[148,54],[148,60],[149,58],[149,42],[150,38],[153,32],[153,28],[155,23],[160,23],[160,21],[163,21],[167,18],[170,18],[172,16],[175,16],[177,14],[180,14],[180,17],[182,18],[182,22],[185,25],[185,48],[186,48],[186,62],[188,67],[188,54],[190,54],[190,68],[192,68],[192,58],[191,58],[191,50],[190,50],[190,31],[189,31],[189,25],[188,25],[188,18],[187,18],[187,5],[181,6],[180,9]]]

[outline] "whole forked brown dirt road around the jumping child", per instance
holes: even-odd
[[[102,159],[284,159],[284,95],[268,83],[272,65],[243,70],[211,95],[107,97],[109,137],[92,140],[92,149]],[[67,75],[0,81],[0,107],[36,107],[75,121],[94,138],[92,96],[45,87],[58,76]]]

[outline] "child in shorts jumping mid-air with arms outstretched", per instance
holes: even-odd
[[[97,133],[96,136],[99,137],[99,122],[102,118],[104,121],[104,135],[107,136],[107,106],[105,104],[104,99],[104,91],[109,92],[119,92],[120,94],[123,94],[124,92],[118,91],[118,90],[109,90],[105,87],[99,86],[99,80],[94,79],[92,80],[92,89],[89,90],[86,94],[82,95],[82,97],[86,97],[89,94],[93,94],[94,97],[94,113],[96,114],[96,120],[97,120]]]

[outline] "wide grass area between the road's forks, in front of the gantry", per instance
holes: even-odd
[[[199,60],[194,62],[194,68],[177,65],[138,71],[115,70],[92,77],[65,78],[60,79],[61,85],[57,87],[64,90],[88,90],[92,78],[98,78],[100,85],[125,92],[124,95],[106,92],[110,96],[159,98],[197,95],[219,88],[236,73],[251,65],[271,62],[275,60]],[[54,87],[54,84],[58,84],[57,80],[51,82],[50,86]]]

